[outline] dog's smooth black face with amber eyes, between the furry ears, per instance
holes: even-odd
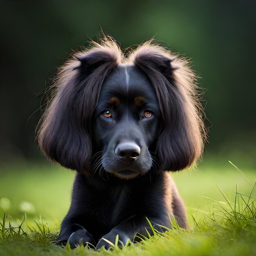
[[[149,148],[159,134],[160,110],[152,84],[135,66],[120,65],[107,76],[93,120],[92,146],[103,152],[93,171],[101,168],[98,162],[121,179],[150,170]]]

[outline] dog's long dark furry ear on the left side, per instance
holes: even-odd
[[[113,42],[75,54],[59,69],[55,94],[38,125],[37,141],[45,155],[62,166],[90,172],[90,121],[101,84],[118,64]]]

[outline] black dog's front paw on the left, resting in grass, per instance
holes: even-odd
[[[81,243],[85,246],[88,244],[95,245],[92,236],[85,230],[80,229],[73,232],[70,237],[68,238],[67,242],[70,244],[70,248],[74,249],[76,245],[81,245]]]

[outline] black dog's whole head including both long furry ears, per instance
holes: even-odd
[[[105,38],[67,61],[54,87],[38,143],[67,168],[129,179],[181,170],[202,153],[194,73],[162,47],[146,43],[126,58]]]

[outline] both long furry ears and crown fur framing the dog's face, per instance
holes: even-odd
[[[155,88],[162,112],[157,155],[161,170],[181,170],[193,164],[206,137],[194,72],[185,59],[152,40],[130,51],[127,58],[109,36],[75,53],[59,68],[56,89],[37,130],[45,155],[79,172],[90,172],[91,119],[101,85],[117,65],[132,64]]]

